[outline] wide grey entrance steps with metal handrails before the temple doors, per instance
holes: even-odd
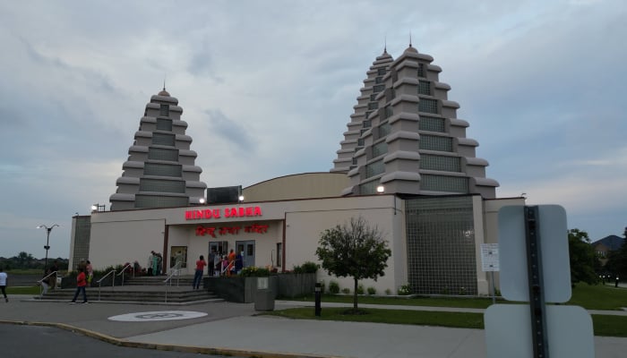
[[[173,277],[172,282],[167,285],[163,283],[165,279],[166,277],[125,277],[124,285],[87,287],[87,300],[91,303],[175,305],[224,301],[206,288],[194,290],[192,276]],[[50,290],[35,299],[70,302],[75,291],[75,287]],[[76,301],[82,301],[82,294],[79,294]]]

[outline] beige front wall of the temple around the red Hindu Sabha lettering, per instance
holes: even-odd
[[[147,264],[151,250],[163,252],[164,233],[167,226],[167,250],[164,258],[169,261],[172,246],[187,247],[188,273],[200,255],[209,254],[210,241],[227,241],[228,248],[235,248],[236,241],[255,241],[255,266],[276,265],[277,243],[283,243],[285,222],[285,261],[282,268],[291,270],[305,261],[318,262],[315,250],[324,229],[348,223],[351,217],[364,217],[370,225],[378,226],[387,238],[392,251],[385,276],[365,280],[365,288],[372,286],[377,293],[389,289],[396,294],[399,286],[407,284],[407,243],[404,201],[391,194],[326,198],[310,200],[244,202],[233,205],[176,209],[142,209],[94,213],[91,217],[90,260],[94,268],[124,264],[137,260],[142,267]],[[477,247],[477,288],[480,294],[489,293],[488,274],[481,270],[481,243],[497,243],[498,209],[506,205],[524,205],[524,199],[482,200],[473,198],[475,217],[475,242]],[[226,217],[225,210],[232,208],[255,208],[262,210],[257,217]],[[185,219],[185,211],[218,209],[220,217]],[[246,233],[245,226],[268,225],[264,234]],[[240,226],[237,234],[198,236],[197,226],[232,227]],[[169,267],[169,262],[167,262]],[[205,271],[207,272],[207,271]],[[329,277],[322,269],[319,279],[328,286],[331,279],[340,287],[353,289],[350,277]],[[498,287],[498,282],[497,282]]]

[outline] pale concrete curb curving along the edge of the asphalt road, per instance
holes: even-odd
[[[119,345],[128,348],[144,348],[155,349],[159,351],[171,351],[192,354],[214,354],[250,358],[341,358],[337,355],[290,354],[281,352],[248,351],[223,347],[195,347],[191,345],[160,345],[156,343],[133,342],[127,341],[125,339],[107,336],[90,329],[74,327],[64,323],[31,322],[26,320],[0,320],[0,324],[60,328],[75,334],[80,334],[82,336],[96,338],[111,345]]]

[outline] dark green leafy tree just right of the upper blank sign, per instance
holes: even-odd
[[[582,281],[588,285],[597,284],[596,268],[599,267],[599,261],[590,245],[588,233],[580,229],[569,230],[568,250],[571,259],[571,283]]]

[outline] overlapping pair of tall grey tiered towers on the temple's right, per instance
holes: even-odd
[[[332,173],[346,173],[342,195],[386,193],[446,195],[479,193],[494,199],[477,141],[466,138],[468,122],[456,117],[451,87],[438,81],[434,58],[409,47],[393,60],[384,49],[366,72],[355,113],[347,124]]]

